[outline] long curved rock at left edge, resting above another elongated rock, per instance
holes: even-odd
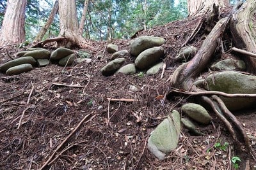
[[[20,57],[18,59],[10,60],[0,66],[0,71],[5,72],[10,67],[19,66],[20,64],[35,65],[36,60],[33,57]]]

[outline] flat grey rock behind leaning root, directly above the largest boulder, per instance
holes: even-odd
[[[243,60],[225,59],[212,65],[211,69],[226,70],[226,71],[231,71],[231,70],[244,71],[246,69],[246,65]]]

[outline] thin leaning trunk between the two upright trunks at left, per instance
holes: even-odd
[[[41,28],[40,32],[37,34],[34,42],[42,41],[42,38],[44,37],[45,33],[49,29],[50,25],[52,24],[52,21],[54,20],[54,16],[58,12],[58,9],[59,9],[59,3],[58,3],[58,0],[56,0],[54,3],[54,6],[52,7],[52,11],[50,13],[50,16],[47,22],[45,23],[44,27]]]

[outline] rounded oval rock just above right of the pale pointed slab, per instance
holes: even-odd
[[[209,124],[211,116],[203,106],[195,103],[188,103],[182,106],[182,111],[196,122]]]

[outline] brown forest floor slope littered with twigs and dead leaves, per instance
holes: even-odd
[[[180,106],[195,102],[182,96],[168,101],[163,96],[170,90],[168,78],[181,64],[172,58],[198,22],[200,18],[176,21],[138,32],[137,36],[166,39],[163,77],[161,73],[102,76],[100,69],[111,57],[106,52],[108,43],[102,41],[91,42],[96,50],[89,52],[90,63],[50,64],[16,76],[0,73],[0,169],[40,169],[47,160],[46,169],[233,169],[234,156],[241,159],[239,169],[255,166],[255,159],[240,150],[211,110],[211,124],[198,125],[204,135],[193,136],[182,128],[179,146],[166,159],[157,160],[147,149],[148,136],[171,110],[184,117]],[[204,34],[198,32],[188,45],[200,47]],[[111,43],[129,50],[129,41]],[[2,48],[0,64],[26,48]],[[214,60],[230,55],[216,55]],[[125,62],[133,61],[134,57],[127,57]],[[130,90],[131,85],[138,91]],[[236,117],[251,136],[255,151],[256,111],[241,111]],[[214,147],[216,143],[223,147]]]

